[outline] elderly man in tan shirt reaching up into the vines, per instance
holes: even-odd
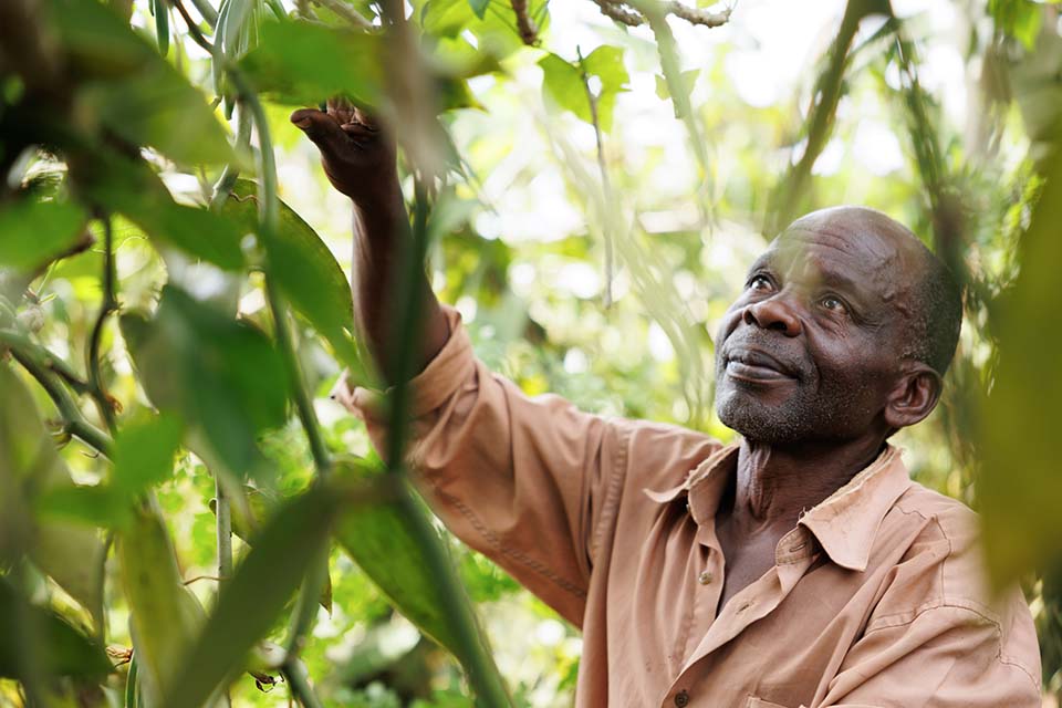
[[[394,377],[386,293],[408,247],[394,147],[353,110],[292,121],[361,215],[358,316]],[[887,442],[933,410],[961,321],[907,229],[816,211],[752,266],[716,339],[729,447],[527,397],[419,284],[418,481],[459,538],[582,628],[576,705],[1040,705],[1020,592],[989,596],[975,516]],[[378,442],[373,396],[339,395]]]

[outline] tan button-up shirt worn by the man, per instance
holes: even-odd
[[[895,448],[719,611],[715,517],[737,448],[529,398],[447,316],[414,381],[418,481],[454,533],[582,628],[577,706],[1040,705],[1020,592],[989,601],[976,517],[910,481]],[[378,445],[374,394],[340,393]]]

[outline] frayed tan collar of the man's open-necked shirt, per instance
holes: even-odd
[[[837,565],[860,572],[866,570],[885,514],[910,486],[902,452],[887,445],[877,459],[844,487],[801,516],[798,524],[814,534]],[[694,468],[681,485],[645,492],[660,503],[687,497],[694,521],[705,525],[715,520],[722,494],[737,470],[737,460],[738,445],[727,446]]]

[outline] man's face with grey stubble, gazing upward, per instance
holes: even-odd
[[[716,337],[719,418],[769,445],[884,430],[913,268],[895,238],[819,212],[749,270]]]

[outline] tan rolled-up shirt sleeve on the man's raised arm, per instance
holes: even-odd
[[[529,397],[473,356],[460,315],[444,311],[450,337],[412,381],[414,479],[450,531],[581,626],[631,456],[652,468],[683,457],[676,447],[702,455],[708,438],[674,426],[662,437],[653,434],[660,426],[583,413],[559,396]],[[383,449],[379,395],[336,394]]]

